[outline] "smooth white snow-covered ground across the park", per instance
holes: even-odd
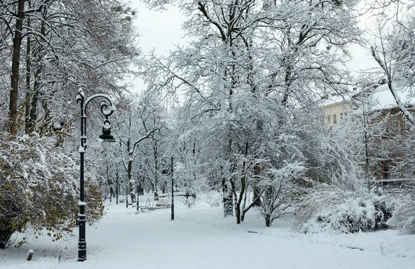
[[[145,204],[150,196],[142,196]],[[87,260],[77,261],[77,230],[65,240],[32,239],[21,248],[0,250],[0,268],[145,269],[414,269],[415,236],[394,230],[358,234],[301,234],[275,221],[266,228],[251,210],[237,225],[199,195],[185,207],[136,214],[136,208],[106,201],[104,218],[86,228]],[[19,235],[22,236],[22,235]],[[33,260],[27,261],[29,249]]]

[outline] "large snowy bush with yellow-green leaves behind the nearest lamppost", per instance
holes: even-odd
[[[53,136],[0,136],[0,248],[14,232],[27,229],[35,236],[47,230],[53,241],[75,226],[79,206],[79,167]],[[86,173],[85,202],[88,221],[102,216],[96,174]],[[21,245],[26,239],[19,242]]]

